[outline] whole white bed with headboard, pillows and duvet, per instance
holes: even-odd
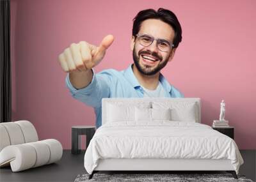
[[[200,124],[200,98],[104,98],[102,126],[84,155],[97,171],[228,171],[243,164],[234,140]]]

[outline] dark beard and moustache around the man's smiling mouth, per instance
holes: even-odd
[[[147,55],[154,56],[160,61],[160,63],[154,69],[150,69],[151,66],[148,66],[148,65],[145,65],[144,68],[143,68],[139,63],[141,54],[147,54]],[[163,57],[159,56],[156,52],[149,52],[147,50],[140,50],[138,52],[138,56],[137,56],[136,55],[136,50],[134,48],[133,51],[132,51],[132,57],[133,57],[134,64],[135,64],[136,68],[139,70],[140,73],[142,73],[144,75],[154,75],[157,72],[159,72],[160,70],[162,70],[164,68],[164,66],[166,66],[166,64],[168,63],[168,59],[170,57],[170,54],[166,59],[163,60]]]

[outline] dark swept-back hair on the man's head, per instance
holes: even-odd
[[[178,47],[179,43],[182,40],[182,29],[179,20],[172,11],[166,10],[164,8],[159,8],[157,11],[153,9],[140,11],[133,19],[132,36],[136,36],[136,34],[138,34],[138,32],[140,31],[141,23],[147,19],[162,20],[166,24],[172,26],[175,31],[173,45],[174,47]]]

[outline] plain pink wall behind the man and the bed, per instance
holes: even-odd
[[[40,139],[71,148],[71,126],[94,125],[93,109],[65,86],[58,55],[81,40],[99,45],[115,36],[95,68],[124,70],[132,63],[129,43],[138,11],[159,7],[180,20],[183,40],[163,74],[186,97],[202,99],[202,123],[226,119],[240,149],[256,149],[256,1],[74,1],[11,0],[13,121],[28,119]],[[254,51],[253,51],[254,50]]]

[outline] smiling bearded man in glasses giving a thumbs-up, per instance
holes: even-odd
[[[160,73],[182,40],[179,20],[172,11],[140,11],[132,27],[134,64],[121,72],[108,69],[95,73],[93,67],[102,61],[113,40],[113,35],[108,35],[99,47],[84,41],[72,43],[59,56],[61,68],[68,73],[65,81],[70,93],[94,108],[97,128],[102,125],[102,98],[184,97]]]

